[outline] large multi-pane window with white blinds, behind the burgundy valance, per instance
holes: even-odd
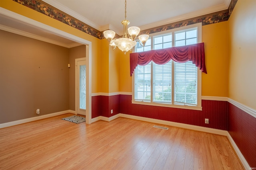
[[[201,42],[201,23],[150,35],[135,52],[164,49]],[[138,65],[133,75],[132,103],[202,110],[201,71],[192,64],[169,61]]]

